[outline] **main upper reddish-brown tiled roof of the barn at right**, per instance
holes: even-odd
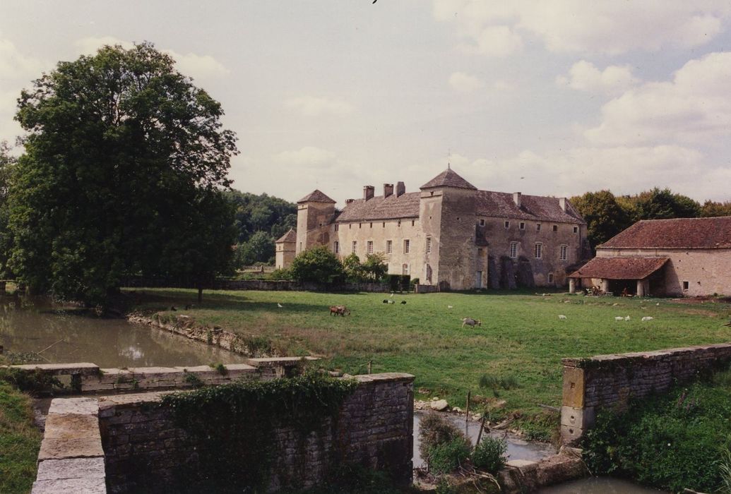
[[[637,221],[597,248],[731,248],[731,216]]]

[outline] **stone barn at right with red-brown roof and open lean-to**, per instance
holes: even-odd
[[[569,291],[577,281],[615,294],[730,294],[731,216],[637,221],[596,247]]]

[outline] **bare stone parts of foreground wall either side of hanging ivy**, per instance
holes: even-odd
[[[270,490],[322,482],[336,463],[358,463],[387,471],[397,482],[412,479],[413,376],[401,373],[355,376],[357,390],[346,399],[336,424],[325,419],[321,435],[300,437],[290,426],[276,429],[280,444]],[[125,493],[161,485],[177,468],[196,468],[195,445],[173,423],[172,414],[150,406],[162,393],[100,398],[108,486]]]

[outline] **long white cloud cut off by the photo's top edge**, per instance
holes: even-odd
[[[724,0],[434,0],[437,20],[455,23],[458,35],[477,50],[485,32],[500,28],[542,39],[555,52],[607,53],[697,47],[716,37],[731,15]]]

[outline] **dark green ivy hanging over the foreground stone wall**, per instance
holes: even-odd
[[[235,381],[164,395],[159,406],[173,411],[194,444],[196,468],[181,466],[175,488],[265,492],[279,449],[295,447],[303,455],[306,438],[327,433],[328,423],[335,427],[342,403],[356,387],[354,380],[309,371],[289,379]],[[275,430],[287,426],[297,431],[298,444],[276,440]]]

